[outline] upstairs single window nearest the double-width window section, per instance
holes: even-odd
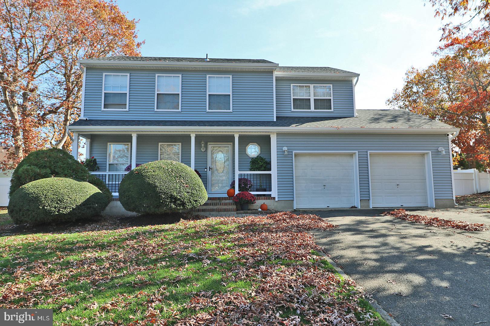
[[[231,76],[208,76],[207,111],[231,112]]]

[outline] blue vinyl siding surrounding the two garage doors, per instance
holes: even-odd
[[[285,155],[282,148],[288,148]],[[445,155],[438,151],[446,150]],[[452,198],[451,157],[445,135],[277,134],[277,193],[293,199],[293,151],[358,151],[361,199],[369,199],[368,151],[430,151],[436,199]],[[328,169],[326,166],[325,169]]]

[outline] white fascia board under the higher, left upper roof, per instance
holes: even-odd
[[[215,67],[215,68],[263,68],[275,69],[278,64],[255,64],[255,63],[215,63],[215,62],[160,62],[160,61],[125,61],[125,60],[78,60],[78,65],[85,67],[146,67],[146,68],[193,68],[193,67]]]

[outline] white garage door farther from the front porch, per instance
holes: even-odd
[[[370,153],[372,207],[425,207],[427,174],[420,153]]]

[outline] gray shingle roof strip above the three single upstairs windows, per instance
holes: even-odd
[[[264,59],[217,59],[209,58],[209,61],[204,61],[205,58],[176,58],[176,57],[131,57],[131,56],[114,56],[92,58],[91,60],[99,61],[141,61],[141,62],[211,62],[223,64],[274,64],[269,60]]]

